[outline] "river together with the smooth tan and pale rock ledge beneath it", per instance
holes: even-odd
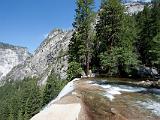
[[[58,114],[65,120],[70,116],[73,120],[159,120],[160,93],[156,88],[122,84],[121,79],[76,79],[32,120],[49,116],[47,120],[59,120]]]

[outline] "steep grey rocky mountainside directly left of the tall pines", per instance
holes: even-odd
[[[22,80],[24,77],[37,76],[43,84],[51,70],[66,78],[67,49],[73,31],[53,30],[40,44],[35,54],[25,62],[14,67],[5,79]]]

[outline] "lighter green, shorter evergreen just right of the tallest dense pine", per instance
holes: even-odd
[[[121,39],[117,43],[118,72],[119,75],[126,76],[139,63],[137,52],[135,49],[137,29],[135,20],[132,16],[124,15],[123,29],[120,33]]]

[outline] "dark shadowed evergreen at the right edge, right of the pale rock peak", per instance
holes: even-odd
[[[151,8],[145,6],[144,10],[137,15],[137,21],[140,29],[137,41],[140,59],[146,66],[153,67],[153,61],[157,59],[153,52],[156,44],[154,38],[160,32],[160,0],[153,0]]]

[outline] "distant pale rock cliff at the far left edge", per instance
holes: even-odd
[[[31,54],[27,48],[13,46],[0,42],[0,80],[7,75],[11,69],[23,63]]]

